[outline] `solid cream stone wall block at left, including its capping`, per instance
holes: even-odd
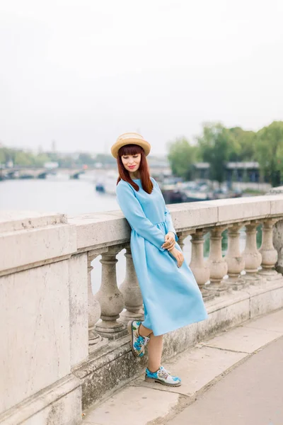
[[[0,423],[79,424],[87,254],[64,215],[1,217],[0,230]]]

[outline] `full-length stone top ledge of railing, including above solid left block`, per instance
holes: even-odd
[[[170,205],[178,232],[233,222],[283,218],[283,194]],[[244,224],[243,224],[244,225]],[[100,253],[129,244],[122,211],[67,217],[41,212],[0,213],[0,275],[84,251]],[[122,249],[122,248],[121,248]],[[10,272],[9,272],[10,273]]]

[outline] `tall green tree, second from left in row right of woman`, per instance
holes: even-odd
[[[236,140],[227,128],[220,123],[204,124],[203,134],[197,137],[200,154],[204,162],[209,162],[210,179],[220,184],[226,178],[226,162],[231,152],[237,150]]]

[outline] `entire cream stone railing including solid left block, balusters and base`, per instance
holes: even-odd
[[[167,336],[164,356],[208,333],[282,307],[283,279],[275,268],[278,253],[282,256],[281,227],[275,229],[283,219],[282,195],[183,203],[169,209],[180,246],[191,237],[190,267],[209,319],[175,332],[177,343],[168,344]],[[228,249],[223,257],[225,229]],[[242,251],[241,229],[246,232]],[[205,235],[208,259],[203,253]],[[79,424],[81,404],[85,408],[98,401],[144,365],[143,359],[137,363],[132,357],[126,329],[129,319],[143,317],[129,237],[129,225],[119,211],[68,220],[35,213],[2,218],[1,424]],[[116,257],[122,249],[125,280],[118,288]],[[101,283],[93,294],[91,270],[98,256]],[[178,335],[183,336],[179,343]],[[36,415],[38,421],[33,422]]]

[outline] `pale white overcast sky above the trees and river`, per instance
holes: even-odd
[[[204,121],[283,119],[282,0],[0,0],[0,141],[153,154]]]

